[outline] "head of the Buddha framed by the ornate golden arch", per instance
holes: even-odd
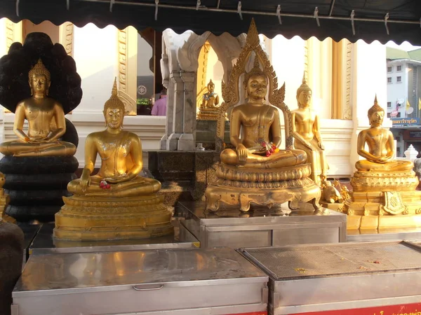
[[[260,69],[259,59],[256,56],[253,69],[244,74],[244,89],[246,98],[253,100],[265,99],[267,93],[267,76]]]

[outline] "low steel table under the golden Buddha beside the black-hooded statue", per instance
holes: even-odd
[[[153,237],[150,239],[122,239],[116,241],[60,241],[53,239],[54,223],[44,223],[29,246],[29,255],[46,253],[89,253],[98,251],[141,251],[158,248],[199,247],[199,241],[185,233],[180,240],[177,221],[174,235]]]

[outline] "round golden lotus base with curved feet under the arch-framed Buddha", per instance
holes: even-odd
[[[298,209],[298,202],[312,202],[321,211],[321,190],[309,179],[310,165],[284,169],[251,169],[220,163],[216,170],[218,181],[205,191],[206,209],[218,211],[221,204],[236,206],[246,212],[250,204],[271,208],[288,202],[290,209]]]

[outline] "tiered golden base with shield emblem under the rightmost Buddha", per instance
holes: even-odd
[[[421,227],[421,191],[415,172],[355,172],[345,202],[347,230]]]

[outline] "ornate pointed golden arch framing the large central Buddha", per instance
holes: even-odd
[[[216,151],[220,152],[224,148],[224,133],[225,133],[225,113],[229,107],[235,106],[240,100],[239,91],[239,80],[243,73],[246,73],[246,64],[248,59],[251,57],[251,53],[255,52],[255,58],[259,59],[260,66],[263,67],[262,71],[267,75],[269,79],[269,104],[276,106],[283,113],[285,120],[285,139],[286,139],[286,150],[293,148],[293,125],[290,110],[288,106],[283,102],[285,99],[285,83],[278,89],[278,78],[273,66],[270,64],[267,55],[260,46],[258,29],[256,28],[254,19],[251,20],[250,27],[247,33],[246,45],[237,59],[235,66],[232,69],[231,75],[229,76],[228,85],[222,80],[222,98],[224,102],[220,106],[218,112],[218,121],[216,125]]]

